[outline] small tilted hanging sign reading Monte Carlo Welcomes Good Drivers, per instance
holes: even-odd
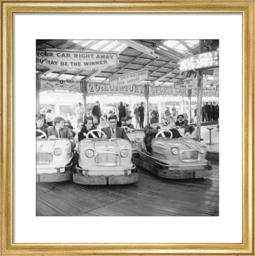
[[[148,69],[127,73],[125,75],[109,78],[109,84],[113,86],[135,85],[146,80],[149,75]]]

